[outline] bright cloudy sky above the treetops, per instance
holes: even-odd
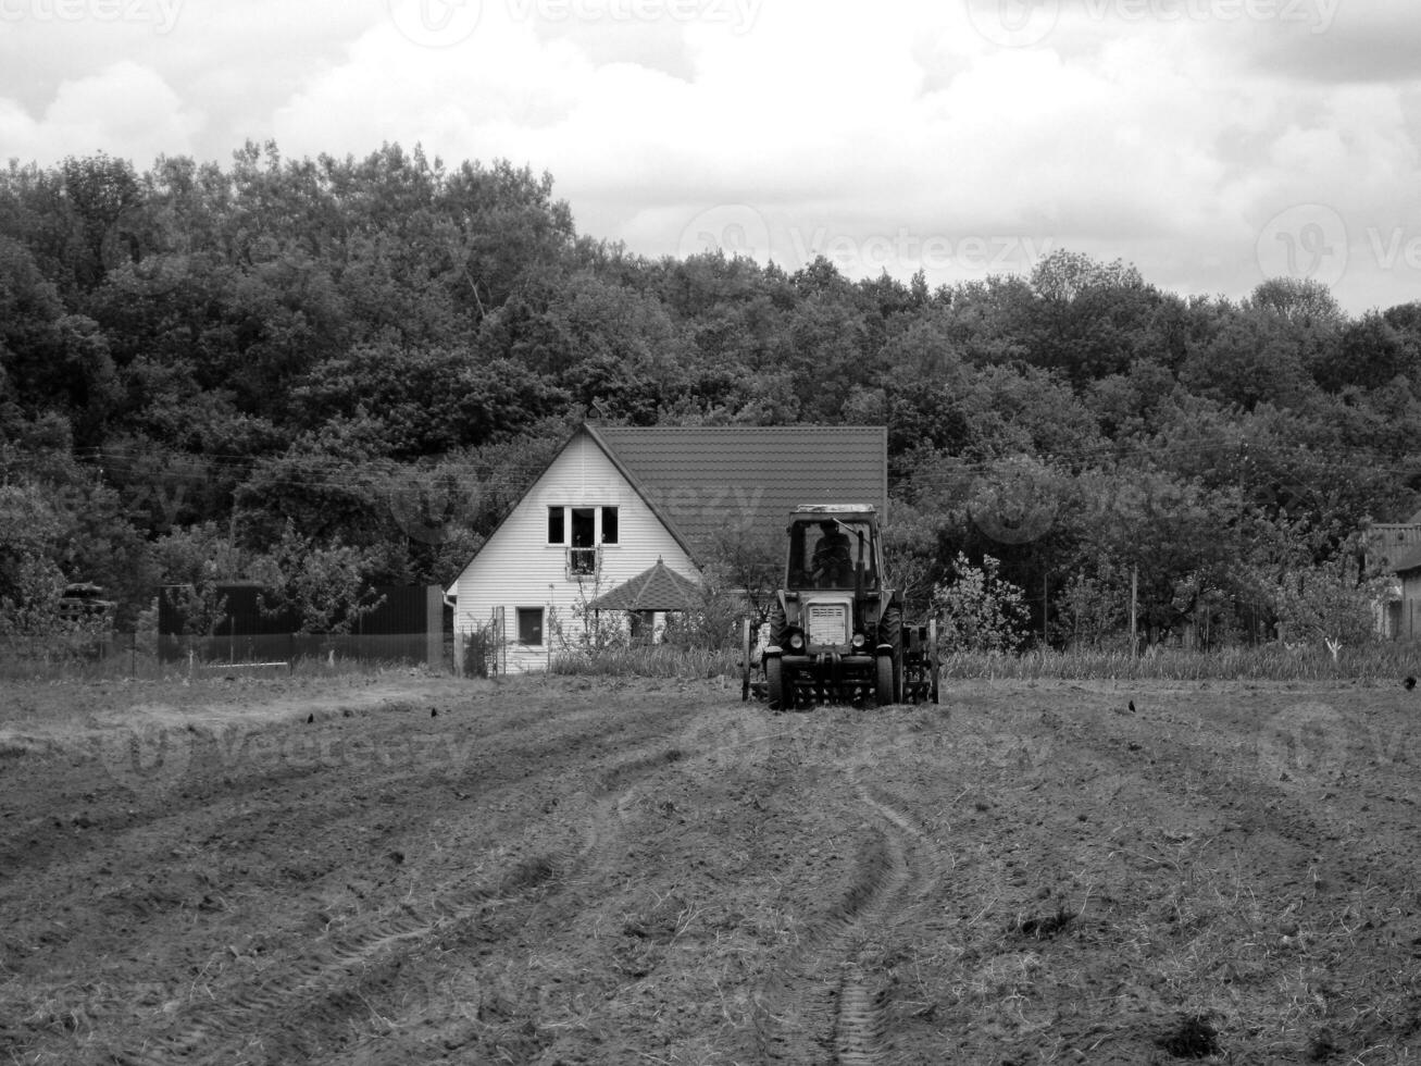
[[[421,145],[659,257],[1421,300],[1415,0],[0,0],[0,161]]]

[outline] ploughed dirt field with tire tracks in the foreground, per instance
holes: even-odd
[[[0,1063],[1421,1062],[1400,684],[0,699]]]

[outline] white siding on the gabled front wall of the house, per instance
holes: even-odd
[[[615,506],[618,543],[601,551],[601,574],[594,581],[568,580],[566,549],[547,543],[550,506]],[[601,516],[598,515],[598,537]],[[568,526],[566,539],[571,540]],[[557,634],[549,625],[547,608],[554,608],[564,635],[576,638],[574,608],[594,600],[661,559],[686,577],[698,577],[691,559],[657,519],[645,500],[627,483],[601,448],[578,434],[543,472],[507,520],[489,537],[479,554],[455,581],[455,630],[475,632],[489,623],[495,607],[503,607],[509,672],[544,669],[549,650],[558,652]],[[517,641],[517,608],[544,610],[543,647],[522,647]]]

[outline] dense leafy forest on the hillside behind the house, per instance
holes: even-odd
[[[1417,509],[1421,301],[651,260],[547,175],[394,145],[0,172],[6,632],[75,580],[124,625],[163,584],[448,581],[584,418],[887,424],[915,600],[1005,583],[1019,637],[1101,642],[1134,583],[1152,637],[1265,640]]]

